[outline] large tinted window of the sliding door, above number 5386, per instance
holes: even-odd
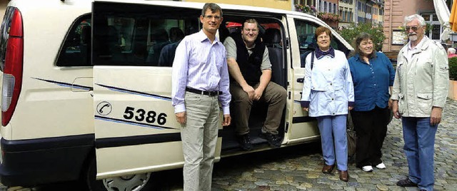
[[[94,65],[171,67],[181,39],[200,29],[198,9],[97,4]]]

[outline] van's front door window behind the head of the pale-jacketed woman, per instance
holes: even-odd
[[[304,68],[305,58],[308,56],[308,53],[311,53],[311,51],[318,48],[316,38],[314,38],[314,33],[316,32],[318,25],[309,21],[295,19],[295,27],[298,36],[298,47],[300,48],[301,68]],[[338,38],[336,38],[336,36],[333,35],[334,32],[335,31],[332,31],[330,46],[335,50],[343,51],[343,53],[347,56],[350,51],[343,43],[341,43],[341,41],[338,40]]]

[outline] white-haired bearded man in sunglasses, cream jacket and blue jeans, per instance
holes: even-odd
[[[393,115],[403,125],[408,177],[396,185],[433,190],[435,134],[448,94],[448,59],[441,44],[424,35],[422,16],[405,17],[409,42],[401,48],[393,82]]]

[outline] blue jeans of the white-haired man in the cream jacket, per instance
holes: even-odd
[[[435,182],[433,155],[435,134],[438,125],[431,125],[430,118],[402,117],[403,140],[408,160],[409,179],[418,184],[419,189],[433,190]]]

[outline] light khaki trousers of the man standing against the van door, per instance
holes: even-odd
[[[186,92],[186,124],[181,130],[184,190],[211,190],[219,126],[218,96]]]

